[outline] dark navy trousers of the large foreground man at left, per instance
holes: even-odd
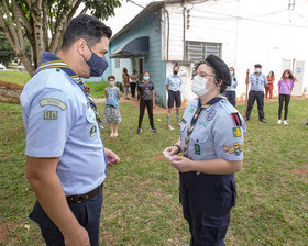
[[[87,202],[68,203],[68,205],[79,224],[87,230],[91,246],[98,246],[102,190]],[[51,221],[38,202],[35,203],[29,217],[38,224],[47,246],[64,246],[64,237],[61,231]]]

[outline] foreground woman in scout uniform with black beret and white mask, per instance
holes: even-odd
[[[234,172],[243,163],[245,123],[222,94],[231,85],[226,63],[209,55],[196,71],[191,89],[198,99],[187,105],[180,137],[165,152],[179,171],[190,245],[222,246],[235,205]],[[180,152],[183,156],[177,155]]]

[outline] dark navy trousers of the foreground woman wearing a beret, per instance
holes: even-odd
[[[234,176],[180,172],[179,198],[189,224],[190,246],[224,246],[237,198]]]

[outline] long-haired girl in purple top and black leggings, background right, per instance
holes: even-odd
[[[292,90],[294,88],[294,82],[296,78],[293,76],[289,69],[285,70],[282,79],[278,82],[278,92],[279,92],[279,110],[278,110],[278,122],[277,124],[282,124],[282,112],[285,102],[285,118],[284,125],[287,125],[287,116],[288,116],[288,104],[290,100]]]

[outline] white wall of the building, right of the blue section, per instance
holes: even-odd
[[[244,96],[246,69],[253,71],[254,64],[262,64],[265,75],[274,70],[277,83],[283,72],[283,59],[302,60],[306,63],[302,93],[308,87],[308,2],[297,0],[294,10],[288,10],[288,0],[187,3],[190,27],[186,29],[186,41],[222,43],[222,59],[228,66],[235,67],[238,97]],[[170,22],[169,60],[183,60],[183,7],[173,3],[166,9]],[[163,25],[166,29],[166,21]],[[169,71],[167,68],[167,74]],[[274,91],[277,93],[276,85]]]

